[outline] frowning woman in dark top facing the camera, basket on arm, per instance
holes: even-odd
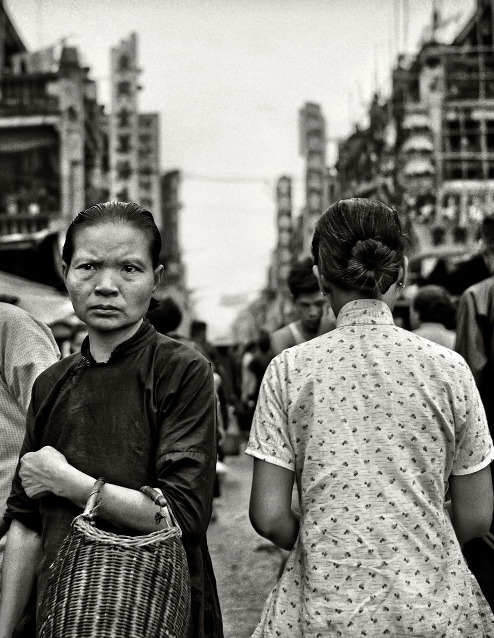
[[[98,525],[115,533],[159,529],[156,505],[138,490],[161,489],[189,563],[189,638],[222,638],[206,542],[217,449],[213,374],[200,353],[145,318],[163,272],[160,249],[150,212],[136,204],[98,204],[69,226],[64,279],[88,336],[80,353],[34,383],[7,501],[0,638],[11,636],[36,578],[40,600],[99,476],[107,482]]]

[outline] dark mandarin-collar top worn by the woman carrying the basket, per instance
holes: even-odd
[[[196,350],[147,320],[97,363],[85,339],[76,353],[34,383],[21,456],[52,445],[68,463],[97,479],[139,489],[160,487],[182,529],[191,572],[189,638],[222,638],[215,577],[206,541],[216,464],[212,369]],[[71,521],[81,513],[50,494],[31,500],[18,469],[6,519],[41,533],[38,600]],[[101,529],[133,535],[98,519]]]

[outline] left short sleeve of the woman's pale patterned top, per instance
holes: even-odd
[[[245,454],[295,471],[288,428],[286,375],[281,372],[282,356],[275,357],[266,369]]]

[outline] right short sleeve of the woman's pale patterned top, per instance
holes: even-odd
[[[494,446],[479,390],[466,365],[458,378],[458,386],[460,390],[456,391],[451,474],[473,474],[494,460]]]

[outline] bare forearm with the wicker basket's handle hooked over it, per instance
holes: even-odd
[[[57,496],[68,498],[84,509],[96,479],[68,466],[66,480],[57,487]],[[98,477],[96,477],[98,478]],[[98,516],[122,529],[131,529],[144,534],[161,530],[166,526],[163,519],[156,523],[159,508],[153,501],[136,489],[106,483],[99,493],[101,501]]]

